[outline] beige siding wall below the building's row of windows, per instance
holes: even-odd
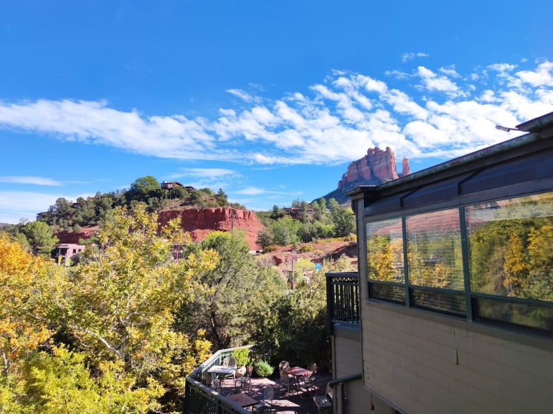
[[[406,413],[545,413],[553,346],[536,348],[365,303],[364,383]],[[467,323],[467,326],[470,325]]]

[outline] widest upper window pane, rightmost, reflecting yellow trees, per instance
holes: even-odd
[[[553,193],[465,212],[471,290],[553,302]]]

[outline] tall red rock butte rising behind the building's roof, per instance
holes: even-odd
[[[397,179],[409,173],[409,160],[404,158],[402,173],[397,174],[395,155],[390,147],[386,147],[384,151],[378,147],[368,148],[367,155],[362,159],[353,161],[348,166],[347,172],[342,175],[338,182],[338,188],[359,179],[363,179],[367,184],[381,184],[384,181]]]

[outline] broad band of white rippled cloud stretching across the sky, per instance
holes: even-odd
[[[553,110],[550,61],[496,63],[465,74],[455,66],[402,73],[407,82],[332,71],[306,91],[279,99],[232,89],[243,102],[220,108],[214,119],[126,112],[107,101],[0,102],[0,128],[171,159],[341,164],[373,146],[391,146],[410,159],[454,157],[505,140],[496,124],[514,125]],[[182,174],[216,179],[232,171]]]

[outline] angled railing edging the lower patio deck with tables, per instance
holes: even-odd
[[[250,346],[241,346],[240,348],[250,348]],[[186,377],[185,396],[182,403],[182,413],[184,414],[234,414],[234,413],[250,413],[245,408],[232,405],[229,400],[226,400],[222,395],[213,391],[206,385],[203,378],[207,374],[209,368],[214,365],[223,364],[223,359],[232,355],[232,351],[236,348],[222,349],[217,351],[207,359],[203,364],[198,366],[194,371]],[[209,375],[209,374],[207,374]]]

